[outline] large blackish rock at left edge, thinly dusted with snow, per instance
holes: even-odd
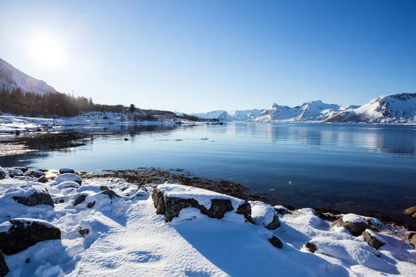
[[[0,233],[0,249],[14,255],[44,240],[60,240],[60,229],[40,220],[13,219],[7,232]]]

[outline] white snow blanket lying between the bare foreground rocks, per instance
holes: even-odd
[[[49,190],[54,207],[15,202],[12,197],[28,183],[0,180],[0,231],[10,228],[10,218],[24,216],[58,227],[62,240],[40,242],[6,256],[8,276],[416,274],[416,251],[405,240],[406,230],[383,224],[377,227],[377,235],[386,244],[377,251],[362,236],[331,227],[309,208],[279,215],[281,226],[274,231],[232,211],[217,220],[191,207],[166,223],[164,215],[157,215],[149,193],[120,179],[85,179],[78,189],[58,188],[55,181],[36,183]],[[112,188],[120,197],[103,195],[101,186]],[[73,206],[80,194],[86,195],[85,201]],[[93,201],[95,205],[88,208]],[[87,229],[88,233],[80,233]],[[282,249],[270,244],[272,235],[281,239]],[[318,247],[315,253],[305,249],[308,241]]]

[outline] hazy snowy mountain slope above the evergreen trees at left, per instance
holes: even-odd
[[[31,91],[40,95],[44,95],[48,92],[57,92],[53,87],[49,86],[49,84],[46,84],[46,82],[37,80],[19,71],[19,69],[16,69],[0,58],[0,87],[2,87],[3,84],[6,85],[6,89],[9,91],[20,87],[23,92]]]

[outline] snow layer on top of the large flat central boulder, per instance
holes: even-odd
[[[236,210],[240,205],[245,202],[236,197],[231,197],[228,195],[222,195],[220,193],[215,193],[211,190],[204,190],[202,188],[195,188],[193,186],[183,186],[177,184],[163,184],[157,186],[159,190],[164,193],[164,197],[177,197],[182,199],[195,199],[198,204],[205,206],[205,208],[211,208],[211,199],[227,199],[231,201],[231,204]]]

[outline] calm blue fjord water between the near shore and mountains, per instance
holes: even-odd
[[[282,204],[345,210],[352,207],[345,202],[354,202],[354,208],[396,217],[416,205],[415,126],[229,123],[84,130],[94,138],[83,140],[85,146],[50,151],[32,142],[40,152],[0,157],[0,166],[184,168],[275,195]]]

